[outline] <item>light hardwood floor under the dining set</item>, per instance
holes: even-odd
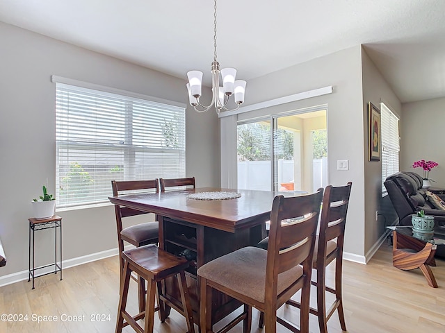
[[[38,278],[34,290],[31,282],[26,281],[1,287],[0,314],[27,315],[28,321],[0,321],[0,332],[114,332],[119,298],[118,268],[118,257],[111,257],[67,268],[63,271],[63,281],[58,280],[58,275]],[[432,271],[439,284],[437,289],[428,287],[419,269],[394,268],[387,244],[367,265],[344,262],[343,300],[348,332],[445,332],[445,262],[437,260],[437,267]],[[331,271],[328,278],[332,278]],[[131,288],[129,309],[136,313],[136,283],[131,283]],[[284,306],[279,314],[298,321],[298,309],[293,307]],[[38,316],[47,316],[42,320],[55,316],[57,321],[38,323],[35,321]],[[252,332],[264,332],[257,325],[258,312],[254,310]],[[155,332],[185,332],[184,327],[184,318],[173,310],[163,324],[155,317]],[[277,325],[277,329],[289,332],[281,325]],[[318,332],[315,316],[311,316],[310,329]],[[337,313],[328,321],[328,329],[330,333],[341,332]],[[126,327],[124,332],[133,330]],[[238,325],[232,332],[242,332],[242,326]]]

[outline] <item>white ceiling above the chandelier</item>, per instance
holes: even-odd
[[[250,80],[364,44],[401,102],[445,96],[444,0],[220,0],[218,61]],[[186,78],[210,77],[211,0],[1,0],[0,21]]]

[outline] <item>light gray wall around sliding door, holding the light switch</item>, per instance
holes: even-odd
[[[250,80],[246,105],[332,85],[332,94],[239,114],[249,119],[264,114],[327,104],[328,182],[353,182],[345,251],[349,259],[364,260],[364,105],[362,98],[362,49],[332,53],[300,65]],[[348,171],[337,171],[337,160],[348,160]]]

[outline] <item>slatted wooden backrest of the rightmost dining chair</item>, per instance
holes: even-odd
[[[325,188],[321,210],[320,230],[318,234],[317,263],[331,262],[334,257],[343,255],[343,241],[348,213],[350,189],[352,182],[347,185]],[[326,257],[327,241],[337,239],[337,248]]]

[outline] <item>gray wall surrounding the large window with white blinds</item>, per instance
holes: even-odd
[[[47,181],[55,186],[55,85],[51,75],[188,103],[185,79],[87,51],[0,23],[0,238],[8,264],[0,277],[27,269],[31,200]],[[186,77],[184,73],[184,78]],[[186,111],[186,173],[197,186],[220,185],[216,112]],[[111,205],[58,212],[63,259],[116,248]],[[36,238],[36,264],[51,262],[51,232]]]

